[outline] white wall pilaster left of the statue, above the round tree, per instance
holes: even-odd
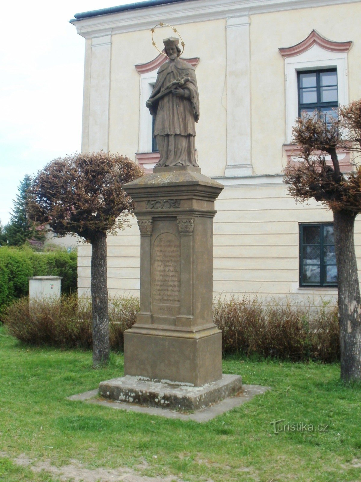
[[[88,151],[108,151],[112,36],[91,40]]]

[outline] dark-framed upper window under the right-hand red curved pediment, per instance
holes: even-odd
[[[311,115],[315,110],[327,120],[335,117],[338,107],[337,69],[297,72],[298,116]]]

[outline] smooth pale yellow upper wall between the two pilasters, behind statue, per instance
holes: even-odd
[[[224,174],[227,112],[224,102],[226,75],[225,20],[179,27],[186,42],[183,57],[200,57],[196,76],[200,120],[196,125],[198,162],[206,175]],[[157,29],[156,41],[171,35]],[[110,88],[109,150],[135,159],[139,139],[140,75],[134,65],[158,55],[149,30],[113,35]]]

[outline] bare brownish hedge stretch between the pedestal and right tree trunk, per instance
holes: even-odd
[[[222,352],[284,360],[339,360],[337,308],[292,305],[244,295],[217,297],[213,321],[222,331]]]

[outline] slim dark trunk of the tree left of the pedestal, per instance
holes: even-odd
[[[109,314],[107,287],[106,234],[91,239],[91,308],[93,320],[93,366],[109,360]]]

